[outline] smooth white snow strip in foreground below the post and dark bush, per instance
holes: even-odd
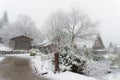
[[[46,76],[52,78],[53,80],[97,80],[92,77],[83,76],[69,71],[60,74],[48,74]]]

